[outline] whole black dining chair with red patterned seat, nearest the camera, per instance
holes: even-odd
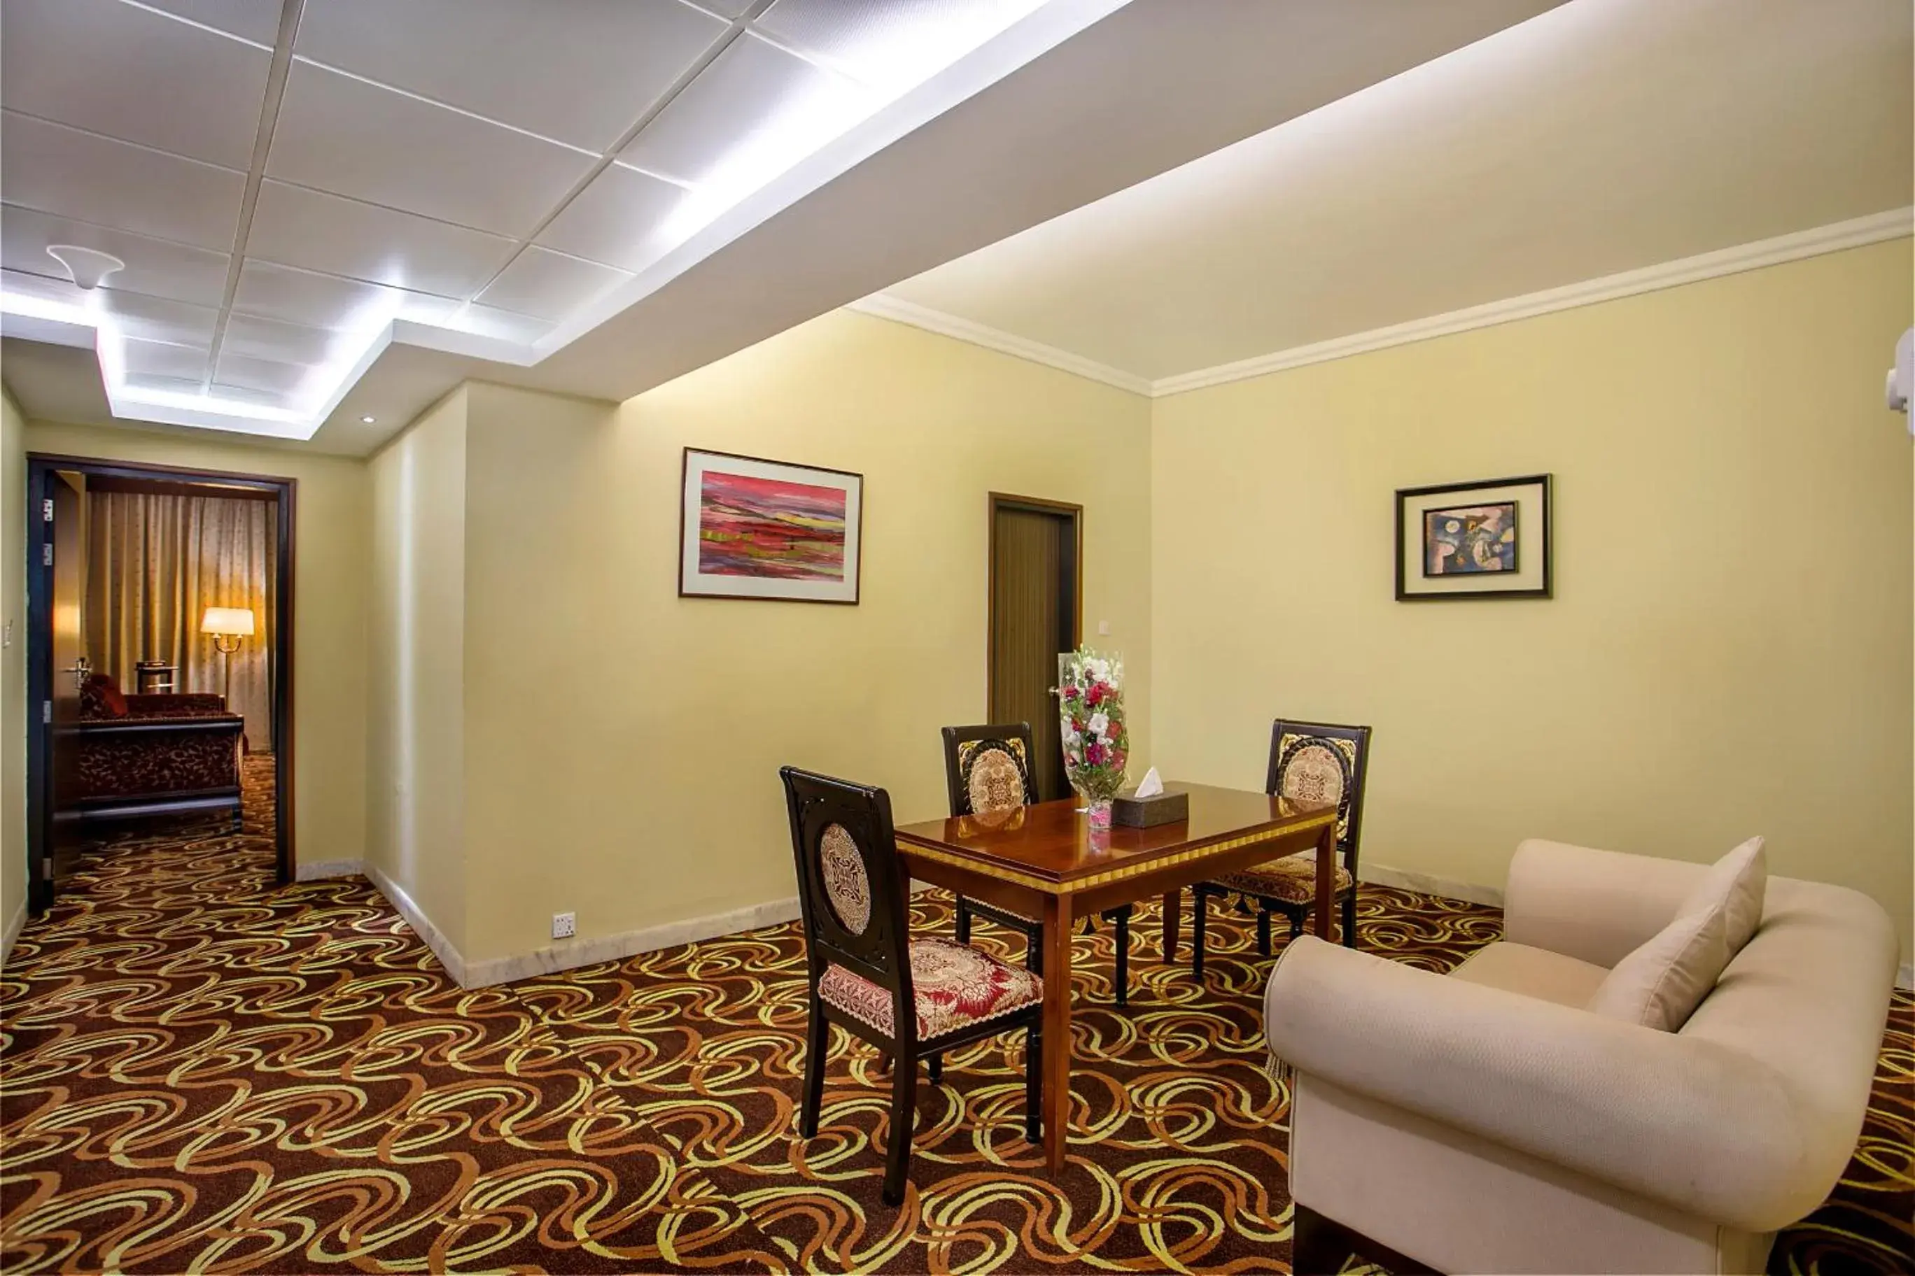
[[[917,1113],[917,1060],[1025,1029],[1025,1138],[1042,1136],[1044,978],[952,939],[912,939],[890,796],[797,767],[779,769],[799,867],[810,1022],[799,1131],[818,1134],[829,1025],[892,1058],[885,1203],[904,1201]],[[1057,1043],[1053,1048],[1069,1048]],[[936,1081],[936,1075],[933,1075]]]

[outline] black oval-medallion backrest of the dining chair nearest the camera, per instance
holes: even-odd
[[[845,966],[892,993],[892,1023],[910,1023],[904,874],[890,826],[890,794],[797,767],[777,773],[791,811],[799,911],[812,983]]]

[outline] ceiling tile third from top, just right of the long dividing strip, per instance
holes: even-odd
[[[287,266],[391,283],[442,297],[471,297],[511,258],[502,235],[412,212],[262,182],[247,253]]]

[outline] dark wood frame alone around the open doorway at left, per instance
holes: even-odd
[[[299,863],[293,846],[293,553],[299,480],[274,474],[239,474],[182,465],[147,465],[136,461],[103,461],[100,457],[71,457],[48,451],[27,453],[27,909],[44,913],[54,899],[48,865],[54,863],[54,802],[52,802],[52,725],[44,706],[54,696],[54,568],[46,562],[48,520],[42,513],[46,482],[56,471],[73,471],[88,478],[138,478],[146,482],[180,484],[186,488],[249,488],[270,492],[278,545],[274,570],[278,574],[278,605],[274,633],[278,643],[272,664],[272,784],[274,784],[274,869],[283,886],[293,880]],[[216,495],[216,492],[207,492]]]

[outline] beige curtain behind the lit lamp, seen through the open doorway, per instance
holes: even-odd
[[[247,746],[272,752],[272,652],[278,522],[272,501],[220,495],[88,492],[86,654],[123,691],[134,664],[178,666],[176,691],[220,693],[224,656],[199,631],[209,606],[253,612],[253,637],[232,656],[232,696]]]

